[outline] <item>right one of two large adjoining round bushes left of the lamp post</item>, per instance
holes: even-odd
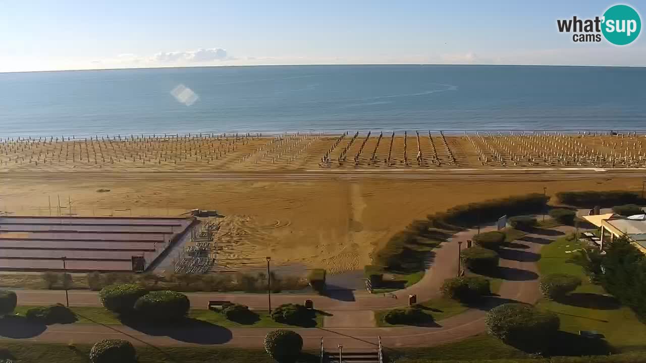
[[[191,302],[189,298],[176,291],[152,291],[141,296],[134,303],[134,311],[138,318],[154,322],[156,324],[167,324],[184,318]]]

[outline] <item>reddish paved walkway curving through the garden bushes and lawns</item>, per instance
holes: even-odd
[[[481,231],[493,230],[486,227]],[[472,337],[485,330],[484,317],[486,310],[492,306],[510,300],[534,303],[539,298],[536,261],[544,244],[558,236],[572,231],[572,227],[557,227],[546,231],[527,234],[512,246],[500,251],[501,274],[505,278],[499,290],[499,296],[486,298],[481,309],[469,309],[465,313],[452,316],[437,322],[436,327],[360,327],[343,322],[344,317],[353,313],[368,316],[366,311],[396,306],[406,306],[407,296],[417,294],[419,301],[430,300],[439,295],[439,287],[445,278],[457,275],[457,241],[471,239],[475,230],[455,234],[448,242],[435,249],[435,260],[424,278],[412,287],[397,291],[391,298],[367,293],[356,293],[344,296],[318,296],[278,294],[271,296],[272,306],[286,302],[302,302],[306,298],[314,300],[315,307],[332,314],[339,314],[337,319],[328,318],[336,327],[318,327],[294,329],[304,338],[304,345],[309,349],[320,346],[324,337],[326,347],[344,344],[346,347],[374,347],[377,337],[388,347],[435,346],[464,338]],[[65,302],[63,291],[16,291],[21,305],[43,305]],[[231,300],[255,309],[267,309],[266,295],[249,294],[211,294],[190,293],[191,306],[206,308],[209,300]],[[336,297],[336,298],[335,298]],[[71,291],[71,306],[100,306],[98,294],[89,291]],[[352,310],[362,310],[352,311]],[[361,325],[361,324],[359,324]],[[348,327],[342,327],[348,326]],[[32,331],[29,331],[32,329]],[[41,328],[42,329],[42,328]],[[169,329],[133,329],[127,326],[101,326],[89,324],[70,324],[48,326],[44,330],[25,327],[1,327],[0,336],[21,338],[39,342],[59,343],[93,343],[101,338],[127,338],[134,344],[153,344],[156,346],[178,346],[185,344],[224,344],[227,346],[260,347],[264,335],[273,328],[239,327],[224,328],[213,324],[196,322],[191,327]]]

